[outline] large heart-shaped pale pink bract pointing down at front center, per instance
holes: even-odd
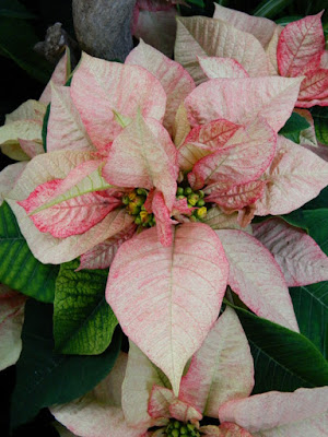
[[[175,393],[187,361],[219,315],[226,280],[220,239],[201,223],[173,227],[169,247],[152,228],[118,249],[106,299],[125,333],[167,375]]]

